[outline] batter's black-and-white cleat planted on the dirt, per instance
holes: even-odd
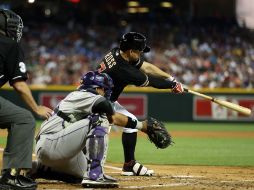
[[[128,163],[124,163],[121,175],[124,176],[152,176],[153,170],[149,170],[147,167],[132,160]]]

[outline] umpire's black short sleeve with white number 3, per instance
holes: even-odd
[[[19,43],[14,43],[7,58],[7,73],[10,85],[17,80],[27,80],[24,52]]]

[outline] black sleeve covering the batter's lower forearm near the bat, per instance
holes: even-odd
[[[170,89],[172,89],[176,85],[176,82],[171,82],[166,79],[162,79],[162,78],[155,77],[152,75],[147,75],[147,76],[148,76],[148,81],[149,81],[148,86],[152,86],[154,88],[158,88],[158,89],[170,88]]]

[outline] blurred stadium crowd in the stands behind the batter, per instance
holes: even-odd
[[[133,23],[128,27],[40,24],[25,28],[31,84],[73,85],[127,31],[147,36],[146,59],[195,88],[254,88],[254,43],[236,25]]]

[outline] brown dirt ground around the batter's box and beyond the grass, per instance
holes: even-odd
[[[174,132],[173,136],[244,137],[254,138],[253,132]],[[0,136],[6,135],[0,132]],[[117,135],[112,133],[111,135]],[[2,156],[0,157],[1,161]],[[121,176],[121,165],[106,163],[107,174],[119,180],[119,189],[174,190],[254,190],[254,167],[148,165],[155,171],[151,177]],[[38,189],[83,189],[80,184],[37,179]]]

